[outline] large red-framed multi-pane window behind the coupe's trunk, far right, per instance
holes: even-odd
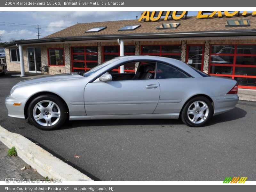
[[[212,45],[209,72],[212,75],[228,76],[235,79],[239,86],[254,89],[256,45]]]

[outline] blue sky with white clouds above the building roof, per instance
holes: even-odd
[[[1,42],[20,39],[36,39],[37,24],[39,25],[39,37],[50,35],[65,27],[76,23],[90,23],[98,21],[131,20],[140,18],[143,11],[56,11],[56,12],[0,12]],[[188,15],[196,15],[197,12],[188,12]],[[36,27],[36,28],[35,28]]]

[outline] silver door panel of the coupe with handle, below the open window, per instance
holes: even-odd
[[[154,77],[110,82],[97,79],[85,86],[84,105],[88,116],[152,114],[159,96],[159,83]]]

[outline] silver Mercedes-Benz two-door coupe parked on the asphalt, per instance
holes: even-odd
[[[28,118],[44,130],[59,128],[67,118],[181,117],[188,126],[199,127],[235,108],[238,99],[235,80],[208,76],[170,58],[124,56],[87,72],[22,81],[5,104],[9,116]]]

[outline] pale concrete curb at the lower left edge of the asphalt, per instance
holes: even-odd
[[[0,141],[8,148],[14,146],[18,156],[44,177],[48,176],[63,181],[92,181],[91,178],[64,163],[32,141],[20,134],[7,131],[1,125]]]

